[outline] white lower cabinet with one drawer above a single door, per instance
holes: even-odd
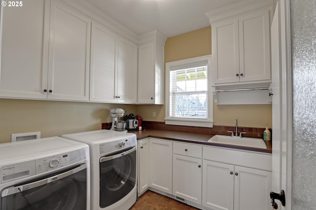
[[[172,194],[198,205],[202,201],[201,155],[202,146],[173,143]]]

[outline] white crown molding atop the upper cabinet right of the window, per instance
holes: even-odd
[[[237,3],[205,13],[210,24],[256,9],[273,6],[273,0],[242,0]]]

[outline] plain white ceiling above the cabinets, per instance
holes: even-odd
[[[206,12],[241,0],[85,0],[137,35],[167,37],[210,26]]]

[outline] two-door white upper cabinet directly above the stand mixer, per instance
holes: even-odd
[[[90,101],[137,103],[137,45],[92,24]]]

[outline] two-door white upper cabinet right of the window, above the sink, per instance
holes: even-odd
[[[271,81],[270,10],[211,22],[213,85]]]

